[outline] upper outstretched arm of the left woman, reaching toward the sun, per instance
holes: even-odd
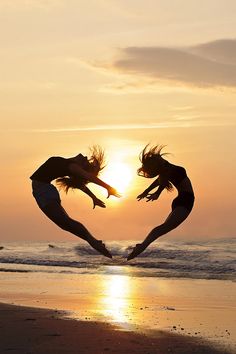
[[[109,184],[103,182],[101,179],[94,176],[92,173],[85,171],[83,168],[78,166],[77,163],[71,163],[69,165],[69,170],[71,171],[72,174],[83,177],[85,180],[95,183],[95,184],[105,188],[108,192],[107,198],[109,198],[110,195],[114,195],[115,197],[118,197],[118,198],[120,197],[120,194],[116,191],[115,188],[113,188]]]

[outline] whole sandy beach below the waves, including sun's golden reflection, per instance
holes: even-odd
[[[0,281],[0,353],[236,349],[231,281],[136,278],[125,268],[123,275],[8,271]]]

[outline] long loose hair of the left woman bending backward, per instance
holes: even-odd
[[[88,166],[84,169],[94,176],[98,176],[100,171],[105,167],[105,153],[99,145],[94,145],[89,148],[90,157]],[[89,181],[80,176],[64,176],[56,179],[59,188],[64,189],[67,193],[69,189],[80,189]]]

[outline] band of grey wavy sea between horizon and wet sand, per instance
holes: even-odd
[[[134,277],[236,281],[236,238],[208,241],[158,240],[132,261],[138,241],[106,241],[113,259],[86,242],[1,242],[0,272],[128,274]]]

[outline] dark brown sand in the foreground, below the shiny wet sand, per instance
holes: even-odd
[[[127,331],[108,322],[66,319],[65,314],[0,303],[0,353],[230,353],[201,337],[162,330]]]

